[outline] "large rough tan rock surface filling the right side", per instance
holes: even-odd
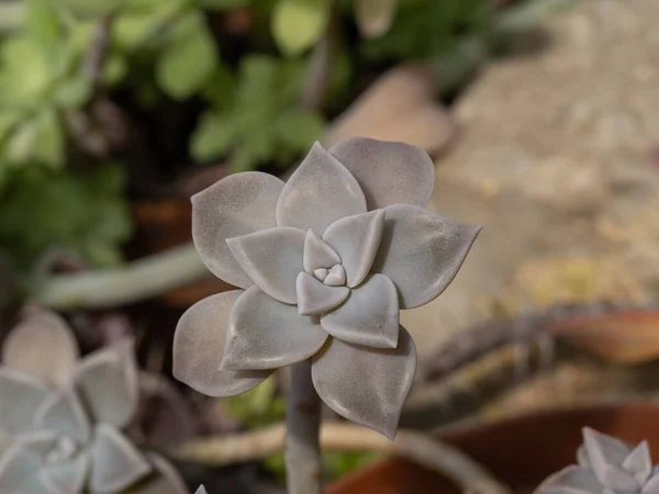
[[[446,292],[403,314],[422,357],[501,307],[656,296],[658,23],[656,0],[583,0],[456,103],[429,207],[484,229]]]

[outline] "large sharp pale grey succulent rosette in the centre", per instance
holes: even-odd
[[[227,396],[313,358],[321,398],[392,438],[416,370],[399,312],[438,296],[480,232],[423,207],[434,181],[423,149],[350,138],[316,143],[286,183],[245,172],[194,195],[201,259],[242,290],[181,317],[175,375]]]

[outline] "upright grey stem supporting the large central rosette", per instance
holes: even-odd
[[[291,368],[286,425],[288,493],[321,494],[321,398],[311,381],[311,360]]]

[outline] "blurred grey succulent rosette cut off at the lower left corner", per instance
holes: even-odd
[[[183,494],[176,470],[122,434],[137,407],[132,341],[79,360],[67,324],[30,315],[0,367],[0,492]]]

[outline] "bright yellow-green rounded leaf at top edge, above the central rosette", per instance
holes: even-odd
[[[272,12],[272,35],[288,56],[313,46],[330,21],[330,0],[279,0]]]

